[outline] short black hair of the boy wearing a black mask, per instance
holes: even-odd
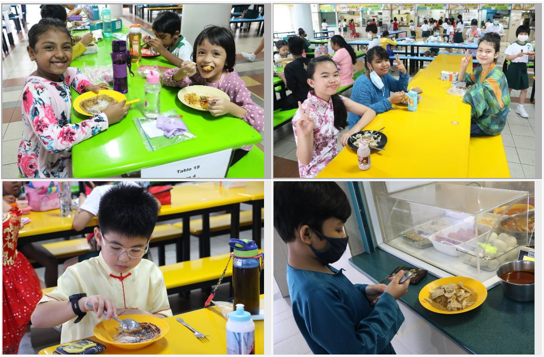
[[[323,222],[329,218],[345,222],[350,215],[348,197],[335,182],[274,183],[274,228],[286,243],[296,240],[295,230],[300,226],[323,231]]]

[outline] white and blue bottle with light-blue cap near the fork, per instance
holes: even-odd
[[[227,354],[255,354],[255,323],[243,304],[228,315]]]

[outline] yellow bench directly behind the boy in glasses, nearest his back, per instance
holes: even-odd
[[[263,250],[259,249],[259,253],[262,252]],[[228,256],[230,254],[231,253],[207,256],[206,258],[159,266],[160,271],[163,273],[166,291],[171,295],[215,285],[221,277],[225,266],[227,266]],[[225,271],[225,277],[221,283],[230,281],[232,281],[232,260],[228,264],[227,270]],[[42,293],[46,295],[53,291],[55,287],[56,286],[52,286],[42,289]],[[263,287],[264,286],[261,286],[261,289]]]

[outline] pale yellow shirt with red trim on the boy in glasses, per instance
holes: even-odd
[[[142,259],[131,270],[118,273],[106,264],[102,254],[109,253],[101,252],[95,258],[68,267],[58,279],[57,287],[44,295],[39,304],[69,301],[71,295],[86,293],[87,296],[107,296],[117,308],[140,309],[151,314],[172,316],[163,273],[157,265]],[[92,336],[92,329],[106,320],[106,314],[99,320],[94,312],[88,311],[81,321],[74,323],[76,318],[63,323],[60,343]]]

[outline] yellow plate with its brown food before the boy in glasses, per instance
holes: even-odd
[[[162,318],[147,315],[123,315],[119,318],[132,318],[140,324],[141,331],[127,333],[123,331],[119,322],[103,320],[92,330],[96,338],[102,342],[109,343],[123,349],[137,349],[162,339],[170,329],[168,323]]]

